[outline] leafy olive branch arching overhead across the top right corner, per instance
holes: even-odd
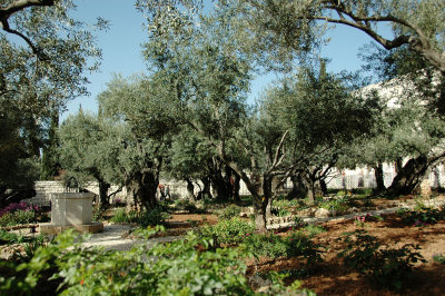
[[[273,32],[294,48],[301,40],[319,39],[328,23],[358,29],[390,50],[409,46],[434,68],[445,73],[445,2],[383,0],[247,0],[251,16],[264,30]],[[257,26],[258,26],[257,24]],[[383,26],[389,24],[392,37],[385,37]],[[259,30],[257,30],[259,32]],[[313,37],[313,38],[308,38]],[[298,39],[299,38],[299,39]]]

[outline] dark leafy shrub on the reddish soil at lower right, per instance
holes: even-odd
[[[340,238],[346,247],[338,254],[344,263],[380,286],[397,292],[402,290],[404,280],[407,279],[417,262],[426,260],[418,253],[418,245],[406,244],[397,249],[382,245],[377,238],[367,235],[363,229],[345,234]],[[384,248],[382,248],[385,246]]]

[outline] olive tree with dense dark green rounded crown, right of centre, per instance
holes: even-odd
[[[286,150],[290,175],[298,175],[310,201],[317,182],[323,182],[337,166],[346,147],[369,135],[370,116],[376,102],[354,90],[356,78],[326,72],[322,60],[318,70],[299,72],[271,88],[265,110],[289,130]]]

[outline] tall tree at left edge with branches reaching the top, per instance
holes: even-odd
[[[0,117],[14,129],[10,141],[18,139],[13,135],[21,140],[16,159],[1,147],[2,159],[18,162],[38,157],[51,115],[62,110],[69,99],[87,93],[85,71],[97,69],[100,50],[91,29],[69,16],[72,9],[69,0],[2,1],[0,105],[4,109]],[[10,165],[1,170],[20,174],[13,168]]]

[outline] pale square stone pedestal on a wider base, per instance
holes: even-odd
[[[40,225],[40,231],[58,234],[68,228],[81,233],[102,231],[103,224],[91,223],[92,197],[90,193],[51,194],[51,223]]]

